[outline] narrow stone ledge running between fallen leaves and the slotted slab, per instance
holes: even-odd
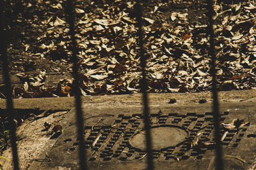
[[[218,93],[220,102],[243,102],[256,101],[256,90],[239,90]],[[168,104],[170,99],[176,99],[176,103],[170,106],[188,106],[198,104],[200,99],[206,99],[211,103],[211,92],[200,93],[169,93],[148,94],[150,105]],[[141,94],[109,95],[109,96],[85,96],[82,97],[83,104],[88,106],[141,106]],[[74,97],[51,97],[35,99],[13,99],[16,109],[40,109],[40,110],[70,110],[75,106]],[[6,108],[6,101],[0,99],[0,109]]]

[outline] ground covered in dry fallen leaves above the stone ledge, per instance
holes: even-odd
[[[24,84],[13,89],[13,97],[73,95],[71,79],[56,80],[52,87],[44,85],[49,73],[72,72],[66,3],[26,1],[15,17],[9,16],[10,66]],[[76,40],[83,96],[140,92],[135,4],[77,1]],[[146,1],[143,12],[148,92],[211,90],[205,1]],[[219,90],[256,88],[255,17],[253,1],[214,3]],[[0,96],[4,98],[4,90]]]

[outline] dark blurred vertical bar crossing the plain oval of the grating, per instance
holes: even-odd
[[[154,169],[153,157],[152,157],[152,143],[150,136],[150,120],[149,120],[149,108],[148,108],[148,95],[147,95],[147,74],[145,71],[146,67],[146,59],[145,59],[145,51],[144,51],[144,42],[143,42],[143,30],[142,30],[142,19],[143,16],[143,6],[140,4],[140,0],[136,1],[136,12],[138,13],[138,36],[139,36],[139,46],[140,46],[140,64],[142,69],[142,80],[141,80],[141,92],[143,93],[143,115],[144,115],[144,128],[146,130],[146,141],[147,141],[147,162],[148,162],[148,170]]]

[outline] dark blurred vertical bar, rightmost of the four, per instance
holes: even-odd
[[[223,169],[223,160],[222,160],[222,150],[221,150],[221,141],[220,141],[220,115],[219,115],[219,103],[218,103],[218,93],[216,87],[216,69],[215,61],[216,55],[214,50],[214,30],[213,24],[213,4],[212,0],[207,0],[208,3],[208,17],[209,17],[209,35],[210,35],[210,55],[211,55],[211,74],[212,74],[212,97],[213,97],[213,106],[212,110],[214,113],[214,138],[216,142],[216,169]]]

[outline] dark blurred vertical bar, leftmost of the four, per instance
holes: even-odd
[[[1,3],[0,3],[0,53],[1,53],[1,60],[3,62],[6,104],[7,104],[7,110],[9,112],[13,166],[14,166],[15,170],[18,170],[19,169],[19,159],[18,159],[17,144],[16,144],[16,124],[13,121],[14,109],[13,109],[13,101],[12,101],[11,79],[10,79],[9,67],[8,67],[9,64],[8,64],[8,58],[7,58],[7,53],[6,53],[6,34],[4,34],[4,32],[5,32],[4,24],[5,24],[5,22],[4,22],[4,4],[3,4],[3,1],[1,1]]]

